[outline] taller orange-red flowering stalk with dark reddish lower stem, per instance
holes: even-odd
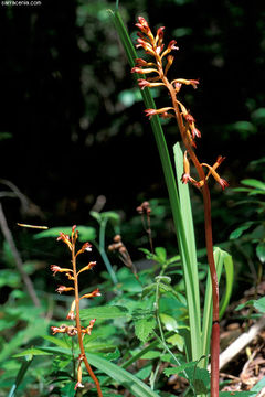
[[[136,66],[132,67],[131,73],[151,75],[144,79],[138,79],[139,87],[152,88],[157,86],[165,86],[171,97],[170,107],[161,109],[146,109],[146,116],[152,118],[158,115],[162,118],[176,118],[178,128],[181,135],[182,142],[186,147],[184,153],[184,173],[182,175],[183,183],[192,183],[202,192],[204,204],[204,226],[205,226],[205,242],[208,251],[208,261],[212,281],[212,299],[213,299],[213,323],[212,323],[212,345],[211,345],[211,396],[219,396],[219,353],[220,353],[220,325],[219,325],[219,283],[216,277],[216,269],[213,257],[213,242],[212,242],[212,222],[211,222],[211,197],[208,186],[208,180],[212,175],[221,185],[222,190],[227,186],[227,182],[223,180],[216,172],[216,168],[221,164],[224,158],[219,157],[216,162],[211,167],[206,163],[201,163],[194,153],[195,139],[201,137],[201,132],[195,127],[195,120],[187,110],[184,105],[178,100],[178,94],[182,85],[191,85],[197,88],[199,81],[177,78],[169,81],[167,73],[173,63],[173,56],[170,54],[173,50],[178,50],[174,40],[170,41],[165,49],[163,44],[163,29],[159,28],[157,34],[153,35],[147,21],[139,17],[136,24],[140,32],[138,33],[137,47],[142,47],[147,54],[151,55],[153,62],[146,62],[137,58]],[[169,55],[170,54],[170,55]],[[167,62],[165,62],[167,57]],[[150,67],[151,66],[151,67]],[[155,75],[153,75],[155,74]],[[190,161],[194,164],[199,180],[197,181],[190,175]],[[204,168],[208,169],[205,174]]]

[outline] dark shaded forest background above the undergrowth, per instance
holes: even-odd
[[[129,218],[142,200],[167,197],[151,129],[106,11],[114,7],[94,0],[1,6],[0,176],[43,216],[21,215],[6,198],[10,222],[89,224],[98,195],[106,196],[105,210]],[[222,174],[232,186],[262,178],[247,165],[264,157],[264,3],[126,0],[120,11],[131,33],[138,15],[167,26],[166,41],[177,39],[180,47],[171,75],[200,79],[197,90],[182,94],[203,133],[199,158],[211,163],[225,155]],[[167,95],[158,105],[166,101]],[[171,146],[173,124],[167,133]]]

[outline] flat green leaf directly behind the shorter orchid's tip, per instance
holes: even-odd
[[[78,240],[81,243],[84,242],[93,242],[96,239],[96,229],[91,226],[77,226]],[[51,227],[47,230],[40,232],[34,235],[35,239],[44,238],[44,237],[53,237],[56,238],[60,236],[60,232],[71,235],[72,227],[71,226],[61,226],[61,227]]]

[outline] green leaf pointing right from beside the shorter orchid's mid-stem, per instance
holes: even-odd
[[[98,308],[89,308],[81,310],[82,320],[109,320],[109,319],[119,319],[128,318],[129,312],[126,308],[120,305],[102,305]]]

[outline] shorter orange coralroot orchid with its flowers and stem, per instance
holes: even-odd
[[[53,276],[55,276],[57,272],[62,272],[64,273],[64,276],[67,277],[68,280],[71,280],[74,283],[74,287],[66,287],[66,286],[60,286],[56,291],[59,293],[62,292],[67,292],[67,291],[74,291],[75,292],[75,298],[73,300],[73,303],[71,305],[71,310],[66,316],[67,320],[73,320],[75,322],[75,325],[65,325],[62,324],[61,326],[52,326],[52,332],[53,334],[56,333],[64,333],[67,334],[68,336],[76,336],[78,337],[78,345],[80,345],[80,356],[77,358],[77,383],[75,385],[75,389],[77,388],[83,388],[84,385],[82,384],[82,362],[84,363],[89,376],[92,377],[92,379],[94,380],[95,385],[96,385],[96,389],[97,389],[97,394],[98,397],[102,397],[102,390],[100,390],[100,385],[99,382],[96,377],[96,375],[94,374],[86,354],[85,354],[85,348],[84,348],[84,344],[83,344],[83,339],[85,335],[91,335],[92,333],[92,329],[95,324],[96,319],[91,320],[88,326],[84,328],[81,325],[81,316],[80,316],[80,301],[84,298],[94,298],[94,297],[100,297],[100,292],[98,289],[94,290],[91,293],[85,293],[82,297],[80,297],[80,290],[78,290],[78,277],[83,271],[86,270],[91,270],[94,268],[94,266],[96,265],[95,261],[91,261],[88,265],[84,266],[83,268],[81,268],[77,271],[77,264],[76,264],[76,258],[78,255],[85,253],[85,251],[91,251],[92,250],[92,245],[89,243],[85,243],[83,244],[82,248],[80,250],[76,251],[76,240],[78,238],[78,230],[76,229],[76,226],[73,226],[72,228],[72,234],[71,237],[64,233],[60,233],[60,237],[57,238],[57,240],[62,240],[63,243],[65,243],[72,254],[72,268],[61,268],[56,265],[52,265],[51,266],[51,270],[53,272]]]

